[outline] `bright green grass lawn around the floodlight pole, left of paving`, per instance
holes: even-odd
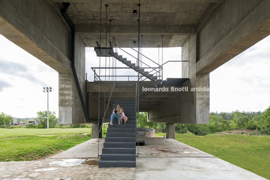
[[[89,128],[0,128],[0,134],[0,161],[37,160],[91,139]]]

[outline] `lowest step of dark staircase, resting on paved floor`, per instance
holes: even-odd
[[[100,160],[99,167],[136,167],[136,161],[125,161],[125,160]]]

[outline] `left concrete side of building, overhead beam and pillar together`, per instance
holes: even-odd
[[[48,1],[0,1],[0,33],[59,73],[59,122],[85,123],[71,66],[71,32]],[[85,46],[76,35],[76,70],[85,96]]]

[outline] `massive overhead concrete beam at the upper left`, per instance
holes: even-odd
[[[47,1],[0,1],[0,34],[58,73],[71,73],[69,28]]]

